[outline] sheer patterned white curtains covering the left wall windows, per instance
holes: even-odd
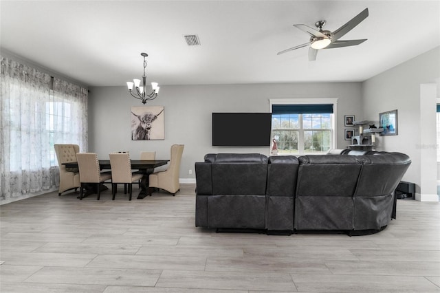
[[[58,186],[55,143],[87,148],[87,89],[0,60],[0,203],[5,203]]]

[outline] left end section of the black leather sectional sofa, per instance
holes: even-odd
[[[200,176],[196,184],[196,226],[265,228],[265,155],[208,154],[204,163],[195,164],[195,171]]]

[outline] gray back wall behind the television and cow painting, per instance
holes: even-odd
[[[100,159],[111,151],[129,151],[137,159],[140,151],[150,150],[156,151],[156,158],[169,158],[171,144],[185,144],[179,177],[192,182],[194,164],[206,153],[270,152],[269,147],[212,146],[212,112],[267,112],[271,98],[338,98],[337,147],[344,149],[349,144],[344,140],[344,115],[362,117],[361,92],[361,83],[160,85],[159,96],[147,105],[164,106],[165,140],[132,141],[130,109],[142,106],[140,100],[132,98],[126,87],[91,87],[88,151]]]

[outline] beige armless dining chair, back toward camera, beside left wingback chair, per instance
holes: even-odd
[[[111,172],[101,172],[98,155],[96,153],[77,153],[78,167],[80,169],[80,199],[83,199],[83,192],[86,186],[96,186],[96,193],[100,198],[101,184],[111,180]]]

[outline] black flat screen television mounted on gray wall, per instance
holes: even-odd
[[[213,146],[270,146],[272,113],[212,113]]]

